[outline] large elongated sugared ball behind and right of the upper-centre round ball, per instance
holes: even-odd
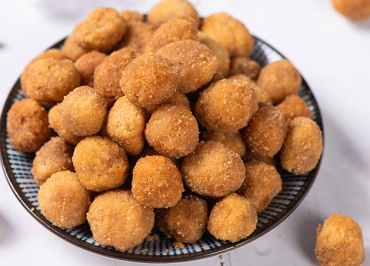
[[[211,81],[217,70],[216,56],[211,49],[198,41],[174,41],[160,48],[157,54],[167,57],[178,68],[179,92],[195,91]]]

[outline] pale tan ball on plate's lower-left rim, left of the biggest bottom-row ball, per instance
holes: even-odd
[[[37,201],[41,212],[53,225],[71,228],[86,221],[90,192],[76,173],[56,172],[40,186]]]

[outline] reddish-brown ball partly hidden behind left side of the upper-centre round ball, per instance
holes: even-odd
[[[120,80],[125,67],[138,56],[131,48],[114,51],[97,65],[94,71],[94,88],[104,97],[109,106],[113,106],[122,97]]]

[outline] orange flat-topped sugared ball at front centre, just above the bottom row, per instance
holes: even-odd
[[[184,192],[179,169],[165,156],[140,158],[132,171],[132,194],[152,208],[174,206]]]

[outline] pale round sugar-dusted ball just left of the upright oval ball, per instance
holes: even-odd
[[[107,102],[101,94],[89,87],[75,88],[59,105],[63,125],[77,136],[98,132],[107,116]]]

